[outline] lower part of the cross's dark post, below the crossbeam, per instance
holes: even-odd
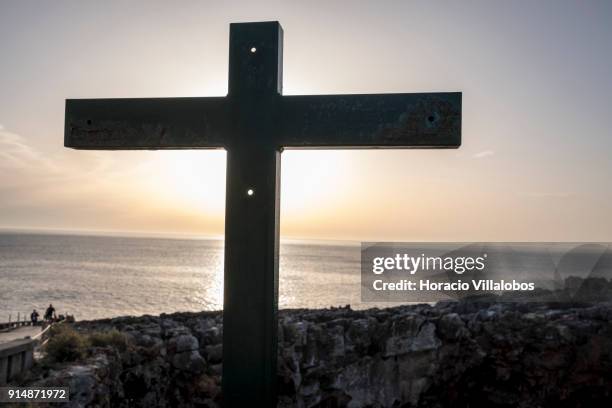
[[[223,403],[275,406],[280,152],[227,153]]]

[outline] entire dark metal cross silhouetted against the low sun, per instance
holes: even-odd
[[[461,93],[282,96],[282,44],[278,22],[231,24],[227,97],[66,101],[67,147],[227,150],[225,406],[276,401],[282,150],[461,144]]]

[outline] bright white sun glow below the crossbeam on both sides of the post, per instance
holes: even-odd
[[[338,197],[350,164],[347,152],[287,150],[282,154],[281,217],[300,222]],[[224,216],[226,152],[166,150],[149,153],[135,182],[183,213]],[[257,186],[253,186],[253,192]]]

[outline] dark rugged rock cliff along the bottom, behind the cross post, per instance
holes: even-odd
[[[281,407],[612,406],[612,305],[455,303],[280,313]],[[219,313],[83,322],[133,347],[69,379],[73,405],[218,406]]]

